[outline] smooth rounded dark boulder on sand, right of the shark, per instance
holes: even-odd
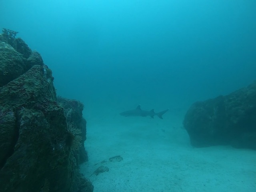
[[[256,82],[227,96],[192,104],[183,124],[193,146],[256,150]]]

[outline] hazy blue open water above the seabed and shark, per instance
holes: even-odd
[[[254,0],[1,0],[0,7],[0,27],[40,52],[58,95],[88,107],[172,108],[256,79]]]

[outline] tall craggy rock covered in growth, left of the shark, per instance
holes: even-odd
[[[0,34],[0,191],[92,192],[83,105],[57,99],[52,71],[15,35]]]

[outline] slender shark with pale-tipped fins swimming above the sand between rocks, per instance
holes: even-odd
[[[151,118],[154,118],[154,116],[158,116],[160,119],[162,118],[162,115],[165,114],[169,109],[166,109],[162,112],[159,113],[155,113],[154,109],[150,110],[150,111],[144,111],[140,108],[140,105],[138,105],[136,107],[136,109],[134,110],[129,110],[129,111],[124,111],[122,113],[120,113],[120,115],[125,116],[125,117],[134,117],[134,116],[141,116],[141,117],[146,117],[146,116],[150,116]]]

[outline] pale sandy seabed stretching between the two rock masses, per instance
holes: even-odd
[[[256,151],[194,148],[183,116],[163,117],[88,121],[89,160],[80,168],[95,192],[256,192]],[[118,155],[122,161],[109,160]],[[99,166],[109,171],[93,174]]]

